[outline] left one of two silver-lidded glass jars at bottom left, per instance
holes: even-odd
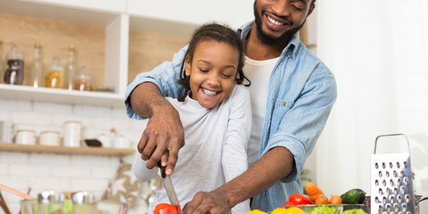
[[[42,191],[37,196],[37,213],[62,213],[64,194],[55,191]]]

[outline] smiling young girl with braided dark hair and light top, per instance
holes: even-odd
[[[240,38],[223,25],[203,25],[190,40],[179,77],[184,93],[178,99],[166,98],[179,112],[186,136],[171,175],[181,208],[198,191],[212,191],[248,168],[251,101],[244,87],[250,82],[242,72],[243,61]],[[140,154],[133,168],[142,181],[159,170],[147,169]],[[149,214],[156,204],[169,203],[163,183],[156,193]],[[249,200],[231,209],[236,214],[247,211]]]

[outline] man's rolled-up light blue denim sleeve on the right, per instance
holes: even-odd
[[[281,179],[281,182],[290,183],[297,180],[303,170],[306,158],[316,144],[316,140],[323,131],[329,113],[336,101],[336,81],[331,72],[311,77],[301,96],[289,103],[292,105],[280,119],[277,132],[268,139],[267,146],[261,155],[270,149],[282,146],[290,150],[294,157],[292,172]],[[272,130],[271,130],[272,131]]]

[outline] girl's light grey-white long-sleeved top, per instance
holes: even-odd
[[[171,180],[181,208],[198,191],[212,191],[248,169],[247,146],[251,131],[251,103],[247,87],[235,85],[229,98],[212,109],[201,107],[187,97],[184,102],[166,98],[177,109],[184,128],[185,145],[179,150]],[[133,170],[136,177],[148,181],[158,168],[147,169],[137,153]],[[163,179],[156,189],[155,204],[169,203]],[[249,200],[231,209],[233,214],[247,213]]]

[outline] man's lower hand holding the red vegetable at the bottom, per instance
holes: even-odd
[[[200,191],[183,208],[183,214],[228,214],[231,207],[227,196],[216,191]]]

